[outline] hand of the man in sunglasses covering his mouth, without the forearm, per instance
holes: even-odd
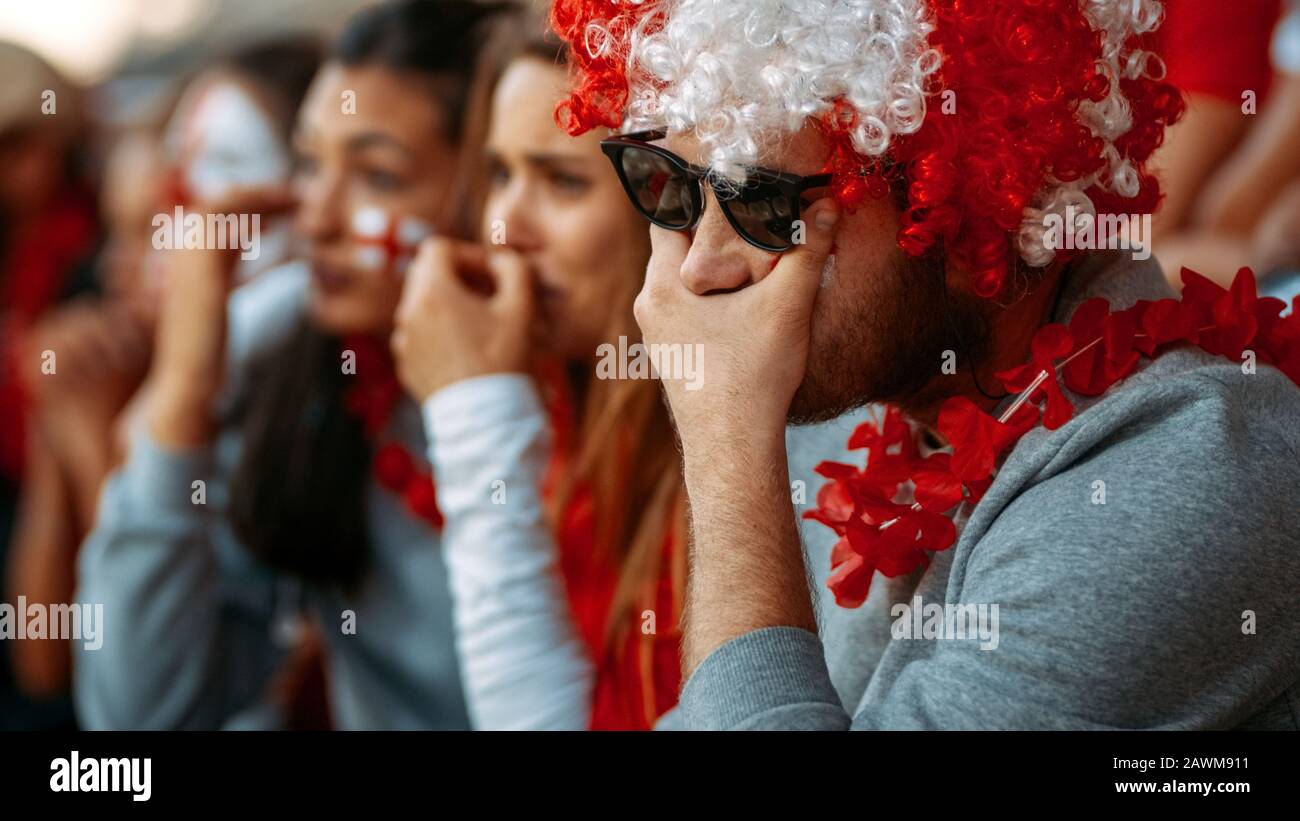
[[[682,447],[780,436],[807,365],[812,303],[835,242],[840,212],[827,197],[805,221],[805,243],[785,252],[760,281],[727,294],[697,295],[681,279],[690,239],[651,226],[653,253],[634,310],[646,346],[702,346],[692,385],[662,374]],[[699,361],[699,360],[697,360]]]

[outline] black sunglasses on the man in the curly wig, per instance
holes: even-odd
[[[632,204],[646,220],[671,231],[689,231],[705,213],[708,184],[727,222],[749,244],[763,251],[789,251],[796,222],[805,207],[803,192],[831,184],[831,174],[800,177],[751,168],[746,181],[714,181],[708,169],[686,162],[667,148],[651,145],[666,131],[638,131],[601,140],[601,151],[614,162]]]

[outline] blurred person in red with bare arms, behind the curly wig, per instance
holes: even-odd
[[[1167,191],[1156,251],[1175,287],[1184,265],[1221,284],[1249,266],[1261,292],[1300,292],[1297,8],[1197,0],[1166,12],[1158,36],[1188,103],[1156,155]]]

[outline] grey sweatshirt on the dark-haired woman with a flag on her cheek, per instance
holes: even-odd
[[[230,392],[250,356],[298,316],[302,286],[300,272],[266,274],[237,292]],[[424,452],[415,403],[399,405],[387,434]],[[272,573],[226,518],[239,447],[235,430],[191,451],[138,431],[105,485],[78,565],[75,600],[104,605],[103,646],[73,642],[83,726],[274,727],[282,717],[268,686],[311,618],[325,640],[335,726],[467,729],[438,533],[372,479],[372,565],[355,596]],[[194,503],[195,481],[205,483],[205,504]]]

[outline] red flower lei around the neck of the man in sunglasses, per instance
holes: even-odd
[[[952,444],[950,455],[922,459],[897,408],[887,408],[879,422],[859,425],[849,448],[867,449],[866,466],[818,465],[816,473],[831,481],[818,491],[818,507],[803,514],[840,535],[827,582],[836,603],[858,607],[876,570],[887,577],[910,573],[928,566],[930,551],[953,546],[957,529],[949,514],[983,498],[998,457],[1040,417],[1044,427],[1056,430],[1074,416],[1058,373],[1070,391],[1097,396],[1131,374],[1140,356],[1190,343],[1234,361],[1251,351],[1258,364],[1300,385],[1300,297],[1282,317],[1286,303],[1258,299],[1249,269],[1239,270],[1226,291],[1186,268],[1182,275],[1182,300],[1143,300],[1113,312],[1106,300],[1089,299],[1069,326],[1039,329],[1031,361],[994,374],[1017,394],[998,418],[965,396],[948,399],[939,412],[939,433]]]

